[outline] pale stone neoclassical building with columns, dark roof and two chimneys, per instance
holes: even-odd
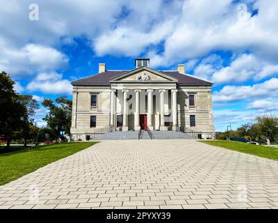
[[[149,59],[136,59],[133,70],[106,70],[72,82],[74,139],[113,125],[117,130],[214,132],[212,82],[177,70],[154,70]]]

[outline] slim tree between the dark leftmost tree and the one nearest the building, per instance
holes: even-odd
[[[21,135],[24,141],[24,147],[27,146],[27,139],[32,137],[32,130],[34,127],[34,120],[32,116],[35,111],[39,108],[38,102],[33,98],[32,95],[19,95],[19,103],[24,107],[24,112],[22,114],[21,123]]]

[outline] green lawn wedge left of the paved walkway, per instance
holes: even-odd
[[[0,185],[31,173],[51,162],[82,151],[96,143],[52,144],[26,151],[0,154]]]

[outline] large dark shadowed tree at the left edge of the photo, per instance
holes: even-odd
[[[24,114],[24,105],[19,102],[14,85],[6,72],[0,73],[0,133],[7,140],[7,148],[10,147],[13,132],[20,128]]]

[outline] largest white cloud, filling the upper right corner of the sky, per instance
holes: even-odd
[[[159,54],[161,64],[171,65],[219,49],[250,50],[267,61],[277,61],[278,2],[258,0],[256,8],[258,14],[252,16],[248,11],[238,11],[238,3],[232,0],[184,1],[179,22],[175,23],[165,40],[163,53]]]

